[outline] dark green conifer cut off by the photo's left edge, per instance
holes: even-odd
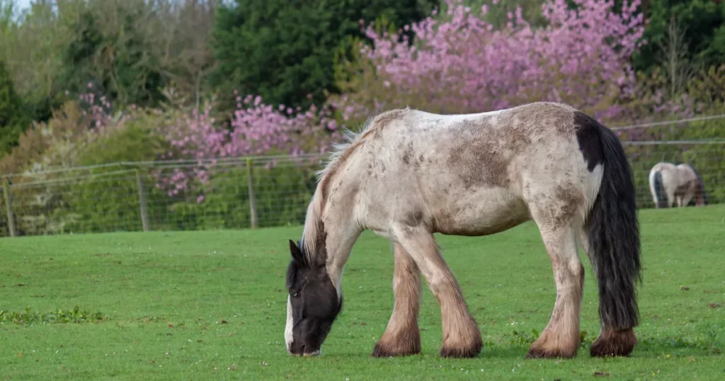
[[[0,60],[0,158],[17,146],[20,134],[30,125],[30,118],[15,92],[5,62]]]

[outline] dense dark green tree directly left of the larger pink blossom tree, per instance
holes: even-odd
[[[237,0],[218,9],[211,83],[224,94],[236,89],[271,105],[308,107],[337,91],[334,54],[347,48],[341,44],[347,36],[363,36],[359,20],[385,17],[402,26],[432,6],[423,0]]]

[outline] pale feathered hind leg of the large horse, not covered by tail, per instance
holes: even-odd
[[[581,265],[576,251],[576,234],[579,234],[579,229],[573,226],[576,216],[573,213],[565,216],[563,213],[562,210],[568,208],[554,209],[558,211],[531,208],[551,259],[556,301],[549,324],[539,339],[531,344],[526,355],[528,358],[576,356],[581,340],[579,314],[584,288],[584,266]]]

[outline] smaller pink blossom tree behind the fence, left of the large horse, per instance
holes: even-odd
[[[212,118],[212,107],[203,112],[184,113],[165,126],[165,139],[173,150],[162,159],[191,159],[194,165],[157,173],[157,188],[170,196],[193,192],[197,202],[204,200],[200,185],[207,184],[211,168],[225,157],[292,155],[326,152],[339,140],[336,120],[329,107],[299,107],[262,103],[261,97],[238,96],[237,110],[230,128]]]

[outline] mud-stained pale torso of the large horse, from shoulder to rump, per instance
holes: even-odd
[[[596,190],[575,111],[542,102],[470,115],[387,114],[394,118],[379,118],[368,133],[370,155],[360,155],[370,209],[386,221],[485,235],[531,219],[536,197],[584,199]]]

